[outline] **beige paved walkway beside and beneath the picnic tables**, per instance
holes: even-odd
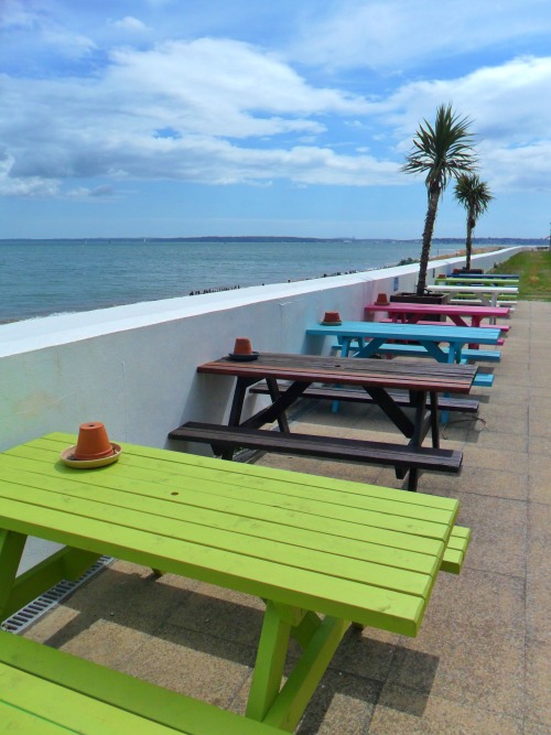
[[[473,541],[441,574],[419,636],[349,630],[301,735],[543,735],[551,732],[551,303],[519,302],[478,419],[453,415],[443,446],[458,477],[419,490],[456,497]],[[301,430],[385,441],[377,409],[329,403]],[[264,455],[263,465],[400,487],[391,469]],[[244,711],[261,603],[116,562],[25,631],[83,657]],[[216,734],[213,734],[216,735]]]

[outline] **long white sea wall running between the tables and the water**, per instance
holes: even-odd
[[[475,256],[473,267],[491,268],[520,249]],[[431,262],[429,282],[463,264]],[[326,352],[306,338],[307,324],[325,311],[361,321],[378,293],[413,291],[417,271],[401,266],[1,325],[0,451],[52,431],[76,433],[85,421],[102,421],[114,441],[166,446],[184,421],[227,419],[233,380],[196,367],[230,352],[237,336],[261,352]]]

